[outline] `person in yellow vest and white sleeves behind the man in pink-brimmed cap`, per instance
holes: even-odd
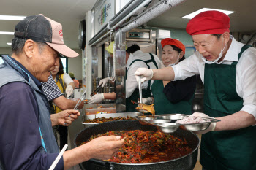
[[[62,93],[66,91],[67,96],[70,96],[72,94],[73,89],[75,88],[75,84],[72,81],[72,79],[69,77],[69,74],[65,73],[63,70],[63,64],[61,62],[61,58],[59,57],[59,60],[57,61],[57,65],[51,72],[53,76],[53,80],[55,80],[56,84],[58,85],[59,89]],[[54,113],[61,112],[61,109],[57,106],[53,106]],[[67,144],[67,126],[58,125],[53,127],[53,133],[58,141],[58,136],[56,135],[56,131],[59,132],[59,148],[60,150],[64,147],[65,144]]]

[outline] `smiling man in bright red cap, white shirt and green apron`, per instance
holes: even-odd
[[[230,35],[229,21],[218,11],[196,15],[186,28],[197,50],[193,55],[176,66],[135,72],[143,80],[200,74],[206,114],[193,115],[221,120],[196,132],[203,134],[200,163],[206,170],[256,169],[256,49]]]

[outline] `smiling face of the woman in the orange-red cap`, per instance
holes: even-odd
[[[162,49],[162,63],[165,66],[169,66],[172,63],[176,63],[178,58],[182,58],[183,55],[178,55],[178,51],[173,50],[173,47],[170,45],[165,45]]]

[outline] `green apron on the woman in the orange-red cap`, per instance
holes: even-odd
[[[151,91],[154,96],[154,110],[156,111],[156,115],[170,113],[191,115],[192,99],[194,98],[194,95],[189,101],[179,101],[178,103],[173,104],[168,101],[163,90],[164,84],[162,80],[154,80]]]

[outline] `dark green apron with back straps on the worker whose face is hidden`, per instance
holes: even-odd
[[[151,53],[149,55],[151,56],[150,60],[143,61],[143,60],[137,59],[137,60],[132,61],[132,63],[135,63],[136,61],[143,61],[148,66],[147,63],[153,62],[154,65],[156,66],[156,68],[158,69],[157,63],[154,60],[154,56]],[[129,67],[132,66],[132,63],[129,65]],[[126,78],[127,78],[127,72],[129,70],[129,67],[126,70]],[[148,66],[148,69],[150,69],[150,66]],[[143,98],[147,98],[147,97],[152,96],[151,95],[151,90],[150,90],[150,85],[151,85],[151,80],[148,81],[148,88],[146,90],[142,89]],[[138,88],[136,88],[135,91],[132,93],[132,95],[129,96],[129,98],[126,98],[126,112],[137,112],[137,110],[135,108],[138,107],[138,105],[137,104],[132,104],[132,101],[137,102],[139,100],[139,98],[140,98],[139,90],[138,90]]]

